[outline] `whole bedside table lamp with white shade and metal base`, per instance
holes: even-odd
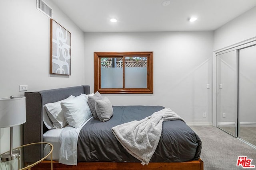
[[[6,162],[17,158],[19,150],[12,150],[12,127],[26,122],[26,97],[0,98],[0,128],[10,127],[10,152],[2,155]]]

